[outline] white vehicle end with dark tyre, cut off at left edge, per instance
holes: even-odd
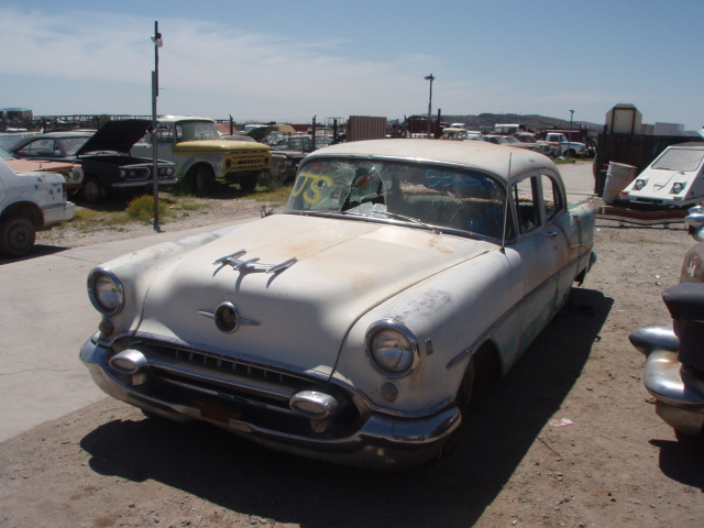
[[[56,173],[14,173],[0,160],[0,254],[23,256],[34,246],[36,231],[74,218],[66,201],[66,180]]]

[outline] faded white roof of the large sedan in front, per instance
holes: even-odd
[[[552,161],[537,152],[479,141],[371,140],[320,148],[308,160],[330,156],[408,158],[464,165],[493,173],[502,179],[544,167],[559,173]],[[510,167],[510,174],[508,174]]]

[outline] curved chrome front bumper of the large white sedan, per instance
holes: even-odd
[[[413,419],[371,413],[362,427],[345,438],[289,435],[234,418],[213,420],[195,405],[173,404],[140,394],[116,376],[108,365],[110,355],[110,349],[91,338],[82,345],[79,356],[96,384],[113,398],[175,421],[209,421],[277,451],[316,460],[381,470],[414,468],[436,458],[461,421],[457,407]]]

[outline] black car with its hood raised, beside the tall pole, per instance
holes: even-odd
[[[89,204],[105,200],[116,191],[151,191],[154,161],[134,157],[130,148],[142,138],[151,121],[125,119],[108,121],[96,133],[54,132],[28,138],[13,154],[33,160],[67,160],[80,163],[84,180],[81,198]],[[176,183],[173,163],[160,160],[160,186]]]

